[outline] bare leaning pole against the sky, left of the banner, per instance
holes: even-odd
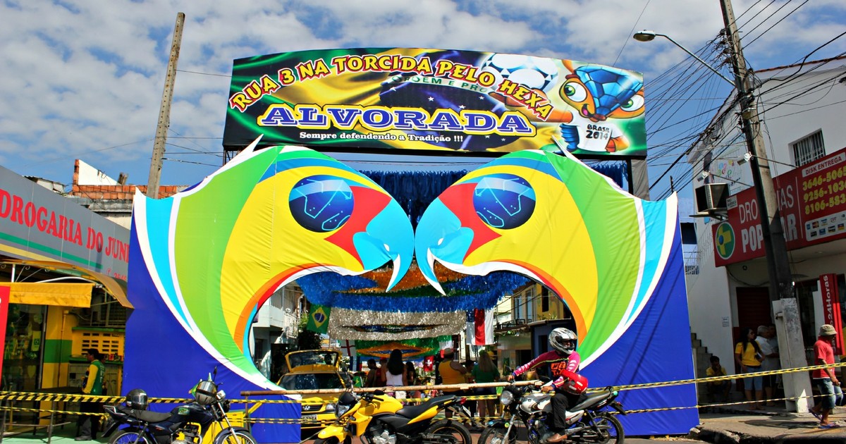
[[[173,82],[176,80],[176,63],[179,60],[179,46],[182,44],[182,26],[184,23],[185,14],[176,14],[173,43],[170,45],[168,76],[164,79],[162,105],[159,107],[159,121],[156,125],[156,140],[153,141],[153,156],[150,160],[150,178],[147,180],[147,197],[152,199],[158,199],[159,181],[162,178],[162,157],[164,157],[164,144],[168,141],[170,103],[173,101]]]

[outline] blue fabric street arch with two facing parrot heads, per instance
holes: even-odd
[[[491,308],[502,295],[450,293],[453,285],[473,282],[458,273],[484,279],[516,272],[569,305],[591,386],[694,377],[690,359],[666,365],[667,350],[689,348],[675,196],[640,200],[569,153],[519,151],[446,189],[415,232],[393,196],[343,163],[303,147],[254,151],[255,145],[178,195],[136,196],[129,268],[136,310],[127,322],[127,386],[143,383],[152,396],[179,397],[183,387],[173,381],[217,365],[227,390],[276,388],[252,362],[251,321],[280,286],[327,271],[354,282],[316,301],[333,307],[330,334],[338,313],[346,321],[338,328],[349,334],[374,326],[370,316],[385,332],[367,327],[362,334],[401,340],[391,335],[461,310],[457,332],[464,310]],[[404,283],[412,253],[419,271]],[[419,286],[424,280],[428,294]],[[376,286],[397,290],[382,294],[373,291]],[[469,300],[478,306],[465,306]],[[362,321],[354,326],[350,320]],[[444,334],[439,328],[424,332],[413,337]],[[182,351],[179,365],[150,359],[162,344]],[[692,385],[624,397],[634,409],[690,407],[633,419],[626,427],[635,435],[682,433],[698,423]],[[268,404],[256,414],[296,418],[299,409]],[[254,431],[259,441],[293,441],[296,430],[261,424]]]

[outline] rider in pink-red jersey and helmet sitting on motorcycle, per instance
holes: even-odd
[[[549,415],[549,428],[555,433],[547,438],[547,442],[559,442],[567,439],[567,408],[579,403],[581,394],[587,389],[587,379],[579,375],[581,357],[576,350],[579,337],[563,327],[556,328],[549,333],[549,345],[552,350],[539,355],[529,363],[519,366],[514,373],[508,375],[508,381],[514,381],[516,376],[541,365],[548,364],[552,375],[552,382],[541,387],[543,392],[552,392],[558,396],[552,397],[552,414]]]

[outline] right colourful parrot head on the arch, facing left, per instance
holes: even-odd
[[[650,299],[676,208],[675,196],[640,200],[569,154],[520,151],[445,190],[420,218],[415,255],[438,290],[436,260],[465,274],[515,271],[551,288],[573,312],[589,365]]]

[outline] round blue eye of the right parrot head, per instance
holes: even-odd
[[[488,226],[503,230],[519,227],[535,211],[535,189],[514,174],[497,173],[481,178],[473,192],[476,214]]]

